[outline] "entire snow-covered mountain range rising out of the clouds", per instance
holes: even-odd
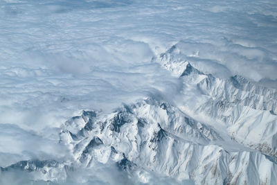
[[[70,171],[104,165],[132,184],[149,183],[152,174],[177,184],[276,184],[276,89],[205,73],[181,51],[176,44],[152,59],[182,82],[172,100],[149,96],[109,114],[82,111],[61,127],[69,159],[19,161],[1,173],[62,183]]]

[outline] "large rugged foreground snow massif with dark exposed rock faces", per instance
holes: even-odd
[[[78,118],[85,120],[83,115]],[[196,184],[276,182],[272,173],[276,162],[243,146],[237,151],[224,149],[224,141],[213,127],[163,101],[147,98],[93,119],[87,120],[90,128],[75,134],[61,132],[61,141],[71,146],[78,163],[88,168],[114,161],[133,175],[137,170],[152,170],[179,180],[194,179]]]

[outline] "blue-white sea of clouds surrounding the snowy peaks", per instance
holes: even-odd
[[[172,46],[177,60],[204,73],[276,89],[276,10],[269,0],[0,0],[0,166],[70,158],[58,134],[82,109],[174,100],[182,82],[157,62]],[[115,167],[98,168],[97,180],[78,172],[83,178],[66,183],[118,181]],[[19,184],[32,179],[25,176]],[[13,177],[0,174],[0,184]],[[150,184],[157,179],[153,173]]]

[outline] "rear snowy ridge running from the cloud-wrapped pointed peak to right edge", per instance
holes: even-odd
[[[179,73],[184,104],[179,103],[179,107],[195,118],[206,116],[215,122],[214,126],[223,123],[223,129],[232,139],[276,157],[276,89],[262,87],[238,75],[217,78],[205,74],[190,62],[184,62],[181,52],[175,45],[158,59],[170,71],[176,71],[175,67],[179,66],[184,69]]]

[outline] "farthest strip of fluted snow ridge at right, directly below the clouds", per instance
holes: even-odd
[[[198,86],[205,94],[215,96],[219,100],[226,100],[252,109],[269,110],[271,114],[277,113],[276,89],[255,85],[242,76],[232,76],[228,80],[208,76],[199,82]]]

